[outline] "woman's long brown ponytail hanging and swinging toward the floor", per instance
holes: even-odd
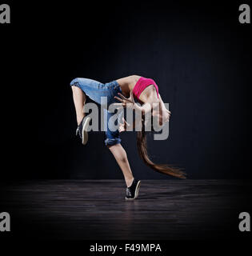
[[[146,141],[146,131],[144,122],[142,122],[142,131],[137,132],[137,146],[138,154],[142,158],[142,161],[149,166],[151,169],[158,171],[158,173],[171,175],[177,178],[186,178],[186,174],[182,172],[181,169],[173,167],[167,164],[156,164],[152,162],[149,158],[147,152],[147,141]]]

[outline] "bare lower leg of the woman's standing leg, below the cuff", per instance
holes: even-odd
[[[122,147],[120,143],[113,145],[113,146],[108,146],[110,149],[111,153],[114,155],[115,160],[118,162],[118,165],[120,166],[122,170],[122,174],[124,176],[126,186],[129,187],[133,180],[133,174],[130,169],[130,163],[127,158],[126,151]]]

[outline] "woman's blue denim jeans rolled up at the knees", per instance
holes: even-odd
[[[70,82],[70,86],[78,86],[86,96],[100,105],[102,103],[101,97],[106,97],[107,105],[110,106],[110,104],[118,102],[114,96],[118,96],[118,93],[122,94],[121,87],[115,80],[112,82],[102,83],[88,78],[75,78]],[[103,110],[104,117],[106,117],[106,120],[104,118],[104,121],[106,121],[104,122],[106,125],[105,144],[106,146],[113,146],[120,143],[121,138],[118,130],[112,131],[109,129],[109,119],[114,115],[114,113],[110,113],[106,109]],[[117,123],[115,123],[115,125],[117,125]]]

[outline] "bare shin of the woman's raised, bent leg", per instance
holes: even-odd
[[[73,98],[74,98],[74,106],[76,111],[77,123],[79,125],[79,123],[82,122],[82,119],[85,116],[83,108],[86,102],[86,95],[77,86],[71,86],[71,87],[73,90]]]

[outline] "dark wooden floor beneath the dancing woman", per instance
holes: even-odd
[[[122,180],[5,182],[0,212],[10,213],[8,235],[14,238],[230,238],[242,235],[238,214],[251,210],[251,186],[234,180],[142,180],[138,199],[129,202]]]

